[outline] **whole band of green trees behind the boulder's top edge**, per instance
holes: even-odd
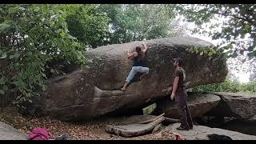
[[[70,34],[90,48],[180,36],[185,31],[172,25],[174,12],[162,4],[86,4],[64,5],[62,8],[69,11],[66,22]]]

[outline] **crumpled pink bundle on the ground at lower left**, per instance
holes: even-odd
[[[50,138],[50,132],[46,128],[34,128],[29,134],[30,140],[48,140]]]

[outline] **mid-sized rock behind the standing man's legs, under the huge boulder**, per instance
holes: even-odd
[[[218,106],[220,100],[221,98],[214,94],[188,93],[187,104],[192,118],[206,114],[208,111]],[[170,98],[159,101],[157,104],[158,109],[162,110],[166,117],[179,118],[177,103],[170,101]]]

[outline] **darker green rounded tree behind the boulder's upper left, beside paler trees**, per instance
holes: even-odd
[[[98,11],[96,5],[74,5],[70,8],[74,9],[66,18],[70,34],[86,46],[102,46],[110,18]]]

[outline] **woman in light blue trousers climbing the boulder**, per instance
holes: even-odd
[[[126,78],[126,82],[124,86],[122,87],[122,90],[126,90],[126,87],[130,83],[130,81],[134,78],[134,75],[137,73],[143,73],[140,79],[142,79],[146,74],[149,74],[150,69],[145,66],[145,53],[147,50],[147,47],[145,43],[142,44],[144,46],[144,49],[140,46],[136,46],[135,51],[130,54],[130,51],[127,50],[128,58],[134,58],[134,65],[130,70],[130,73],[128,77]]]

